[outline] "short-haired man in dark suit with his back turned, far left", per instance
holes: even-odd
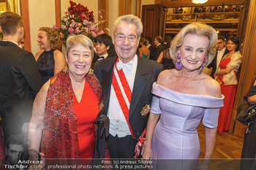
[[[42,86],[34,55],[18,46],[23,20],[14,12],[0,15],[0,115],[4,141],[12,134],[27,138],[33,101]]]

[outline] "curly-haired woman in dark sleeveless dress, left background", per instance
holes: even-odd
[[[37,42],[42,50],[36,53],[37,69],[42,77],[42,82],[47,82],[50,77],[61,71],[66,62],[61,51],[57,50],[61,47],[61,40],[58,32],[53,28],[39,28]]]

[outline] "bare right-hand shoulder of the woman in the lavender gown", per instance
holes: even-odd
[[[217,98],[222,97],[219,82],[217,82],[210,76],[206,75],[206,77],[203,79],[203,85],[205,87],[207,95],[214,96]]]

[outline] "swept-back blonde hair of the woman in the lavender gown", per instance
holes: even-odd
[[[208,37],[209,45],[206,51],[206,62],[204,63],[204,67],[208,66],[208,64],[214,59],[216,53],[218,34],[214,28],[206,25],[205,23],[189,23],[187,26],[184,26],[184,28],[178,32],[170,43],[170,57],[173,58],[174,62],[177,61],[178,49],[181,47],[184,41],[184,36],[187,34]]]

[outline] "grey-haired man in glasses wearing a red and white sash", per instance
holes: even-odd
[[[135,145],[143,142],[151,104],[151,88],[162,64],[136,54],[143,24],[135,15],[119,17],[113,26],[117,56],[97,61],[94,74],[103,90],[105,112],[110,118],[107,144],[110,158],[134,158]],[[141,153],[141,152],[140,152]]]

